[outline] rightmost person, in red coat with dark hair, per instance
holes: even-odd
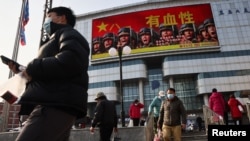
[[[234,121],[235,125],[241,125],[242,124],[242,112],[239,110],[238,105],[243,105],[237,100],[234,96],[234,94],[230,95],[230,98],[228,100],[228,105],[230,108],[230,113],[232,116],[232,119]]]

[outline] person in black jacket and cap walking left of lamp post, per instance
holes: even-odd
[[[98,126],[100,141],[110,141],[112,132],[118,132],[115,103],[108,100],[103,92],[97,93],[95,100],[97,101],[97,105],[90,132],[93,133],[95,127]]]

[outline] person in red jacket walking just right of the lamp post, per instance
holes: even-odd
[[[139,126],[142,108],[144,108],[144,104],[140,103],[138,99],[130,105],[129,116],[133,120],[133,126]]]

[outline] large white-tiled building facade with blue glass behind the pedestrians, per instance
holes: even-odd
[[[204,5],[205,8],[210,7],[211,11],[199,10],[199,7]],[[209,12],[211,12],[210,15]],[[166,49],[165,51],[157,51],[156,49],[155,51],[151,50],[149,53],[135,54],[133,54],[133,51],[138,50],[132,48],[131,55],[123,55],[123,100],[126,117],[128,117],[129,105],[135,99],[144,103],[144,111],[147,111],[153,97],[160,90],[166,90],[169,87],[176,89],[177,96],[183,100],[190,114],[202,112],[202,106],[204,104],[208,105],[208,98],[212,88],[217,88],[225,97],[228,97],[231,93],[241,97],[249,94],[250,2],[248,0],[150,0],[78,15],[76,28],[92,46],[92,39],[98,35],[94,29],[98,20],[105,21],[105,19],[108,19],[106,22],[110,22],[110,24],[105,25],[105,22],[102,23],[108,28],[111,24],[112,27],[119,26],[114,17],[123,17],[124,22],[131,23],[130,28],[138,29],[136,26],[139,22],[133,21],[133,18],[136,20],[136,14],[138,13],[144,14],[145,19],[153,16],[154,13],[159,17],[167,17],[168,14],[172,14],[180,18],[180,13],[182,13],[182,16],[183,14],[186,16],[182,19],[182,22],[185,23],[183,20],[187,20],[186,23],[192,23],[193,25],[195,22],[199,22],[199,16],[197,18],[195,15],[202,17],[201,15],[205,14],[204,18],[213,18],[217,42],[212,41],[209,44],[203,42],[205,45],[199,47],[195,47],[199,41],[192,42],[193,47],[190,47],[189,43],[178,43],[177,49]],[[132,20],[130,19],[131,15],[132,17],[134,15]],[[193,22],[190,22],[190,15],[193,16]],[[163,21],[165,24],[169,23],[166,18]],[[175,23],[179,31],[177,34],[180,35],[182,25],[178,21]],[[205,20],[203,25],[205,25]],[[193,26],[196,33],[199,32],[198,26]],[[150,27],[160,28],[160,23],[150,25]],[[135,32],[139,38],[140,31]],[[116,38],[119,38],[118,34],[117,29]],[[198,40],[198,36],[196,39]],[[96,59],[92,54],[90,58],[88,112],[91,116],[93,115],[94,97],[97,92],[103,91],[108,99],[118,103],[121,97],[119,94],[120,71],[118,57],[111,57],[106,54],[106,57]],[[117,106],[120,109],[120,104]]]

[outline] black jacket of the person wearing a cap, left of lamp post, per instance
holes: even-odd
[[[114,102],[104,99],[97,103],[92,127],[96,125],[99,127],[117,127],[117,114]]]

